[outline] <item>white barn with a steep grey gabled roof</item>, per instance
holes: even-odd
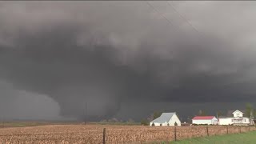
[[[181,126],[181,121],[178,119],[176,113],[162,113],[159,118],[150,122],[150,126],[174,126],[175,122],[177,126]]]

